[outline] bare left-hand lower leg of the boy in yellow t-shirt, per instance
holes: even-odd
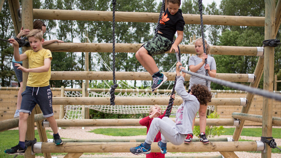
[[[19,113],[19,141],[25,142],[28,113]]]

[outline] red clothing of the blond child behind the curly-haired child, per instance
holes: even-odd
[[[165,112],[158,116],[158,118],[162,119],[165,116],[166,110]],[[143,119],[140,120],[140,125],[142,126],[146,126],[147,130],[146,130],[146,134],[149,130],[150,124],[152,122],[153,118],[150,118],[149,116],[144,117]],[[156,135],[154,142],[158,142],[159,140],[161,140],[161,133],[160,131],[158,132],[158,134]],[[165,158],[165,154],[162,153],[150,153],[150,154],[146,154],[146,158]]]

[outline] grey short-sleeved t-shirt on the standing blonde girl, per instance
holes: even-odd
[[[196,56],[190,56],[190,58],[188,60],[188,67],[190,65],[196,66],[200,62],[202,62],[202,59],[199,58],[197,55]],[[216,61],[215,61],[215,59],[212,56],[208,55],[207,63],[210,66],[210,70],[216,70]],[[205,66],[205,64],[198,71],[196,71],[196,73],[199,73],[201,75],[206,75],[206,70],[205,70],[204,66]],[[208,76],[209,76],[209,74],[208,74]],[[206,80],[205,79],[201,79],[200,77],[190,76],[189,89],[191,89],[191,87],[194,84],[206,85]],[[211,90],[210,84],[211,84],[211,81],[208,81],[208,89],[209,90]]]

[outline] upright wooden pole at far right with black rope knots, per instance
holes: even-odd
[[[265,1],[265,40],[274,39],[275,33],[275,0]],[[264,80],[263,89],[273,91],[274,75],[274,47],[264,48]],[[262,108],[262,136],[272,136],[272,99],[263,97]],[[271,157],[271,148],[265,144],[265,153],[262,158]]]

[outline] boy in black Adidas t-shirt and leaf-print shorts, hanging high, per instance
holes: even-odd
[[[152,56],[163,54],[168,50],[178,52],[178,45],[183,39],[185,22],[179,9],[180,5],[181,0],[167,0],[167,9],[162,15],[159,28],[156,28],[157,34],[142,45],[135,54],[141,65],[152,75],[152,92],[167,80],[167,77],[159,71]],[[175,32],[178,33],[178,37],[173,42]]]

